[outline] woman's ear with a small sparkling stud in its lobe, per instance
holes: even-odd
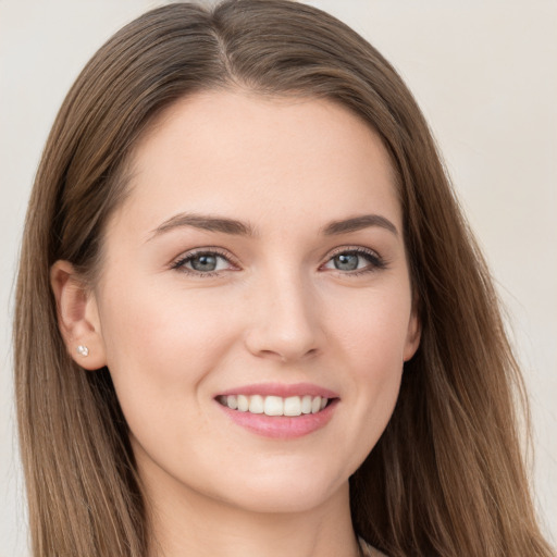
[[[58,326],[67,352],[82,368],[98,370],[107,364],[97,300],[72,263],[57,261],[50,269],[50,285],[57,300]],[[87,350],[78,351],[78,347]],[[83,354],[88,351],[87,355]]]

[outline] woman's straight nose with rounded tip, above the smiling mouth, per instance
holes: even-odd
[[[252,355],[286,363],[322,350],[320,305],[311,286],[299,276],[275,275],[262,281],[250,302],[245,343]]]

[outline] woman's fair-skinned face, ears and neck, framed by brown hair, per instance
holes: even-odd
[[[158,550],[358,555],[348,479],[419,343],[381,141],[330,101],[203,92],[143,138],[129,188],[95,286],[51,276],[72,356],[113,377]],[[226,407],[258,393],[327,406]]]

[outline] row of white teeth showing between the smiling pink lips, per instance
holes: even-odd
[[[334,398],[321,396],[262,396],[262,395],[221,395],[216,401],[231,410],[265,416],[304,416],[319,413],[324,410]]]

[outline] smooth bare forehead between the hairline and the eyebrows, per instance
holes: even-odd
[[[295,216],[296,209],[308,220],[379,208],[400,221],[379,136],[323,99],[222,90],[181,99],[138,143],[132,176],[126,212],[138,211],[152,225],[172,211],[262,223],[281,211]]]

